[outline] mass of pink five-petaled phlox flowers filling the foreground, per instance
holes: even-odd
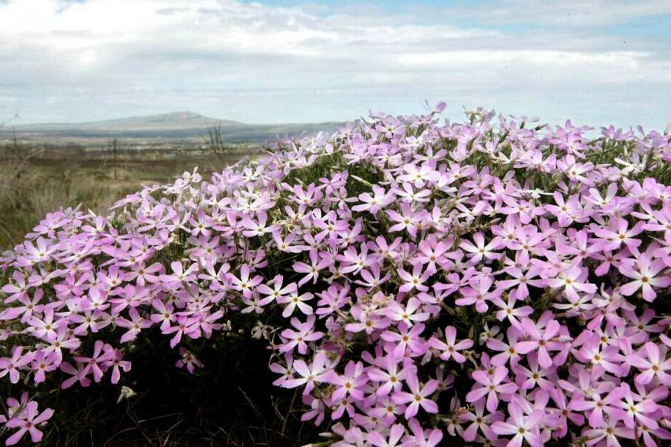
[[[671,137],[444,107],[47,215],[1,260],[0,377],[121,385],[149,331],[194,372],[244,329],[320,445],[668,443]]]

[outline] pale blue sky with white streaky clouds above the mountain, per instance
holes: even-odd
[[[671,122],[671,1],[0,0],[0,122]],[[14,118],[12,118],[14,117]]]

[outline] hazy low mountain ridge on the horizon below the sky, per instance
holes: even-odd
[[[0,127],[0,138],[7,138],[15,132],[17,136],[38,139],[49,137],[193,139],[207,135],[208,129],[217,127],[226,141],[263,141],[276,134],[333,132],[338,125],[339,123],[336,122],[250,125],[243,122],[208,118],[199,113],[173,112],[94,122],[6,125]]]

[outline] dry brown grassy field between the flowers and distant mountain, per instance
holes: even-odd
[[[171,182],[194,166],[207,176],[260,150],[259,143],[231,143],[217,156],[196,141],[124,140],[115,157],[106,139],[0,141],[0,251],[59,206],[82,204],[102,213],[143,184]]]

